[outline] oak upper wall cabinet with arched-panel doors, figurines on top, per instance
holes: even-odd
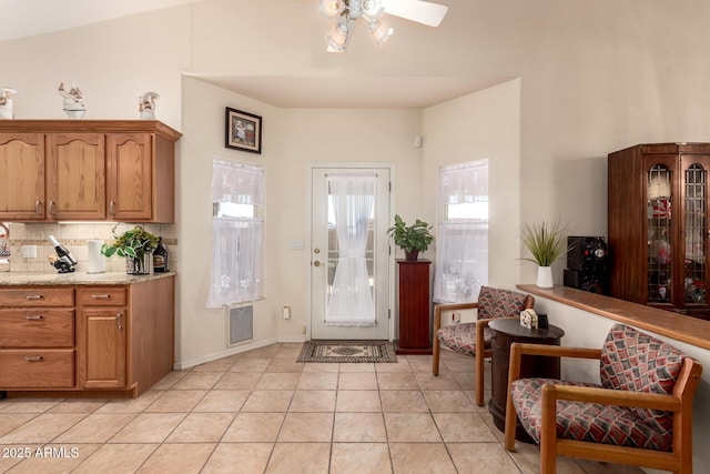
[[[154,120],[0,121],[0,221],[172,223],[180,137]]]

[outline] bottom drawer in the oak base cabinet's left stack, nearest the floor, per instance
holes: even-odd
[[[74,386],[74,350],[0,351],[0,387],[71,389]]]

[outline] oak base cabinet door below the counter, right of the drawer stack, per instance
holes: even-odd
[[[85,389],[125,386],[126,311],[84,309],[81,314],[81,382]]]

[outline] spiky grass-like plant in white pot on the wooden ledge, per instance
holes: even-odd
[[[538,264],[537,285],[552,288],[551,265],[557,259],[567,253],[567,228],[559,222],[525,223],[523,226],[523,243],[531,258],[524,258]]]

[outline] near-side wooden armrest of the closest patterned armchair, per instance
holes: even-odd
[[[558,400],[599,403],[601,405],[632,406],[666,412],[680,412],[682,407],[680,397],[676,395],[592,386],[545,384],[542,387],[542,405],[549,404],[550,406],[556,406]]]

